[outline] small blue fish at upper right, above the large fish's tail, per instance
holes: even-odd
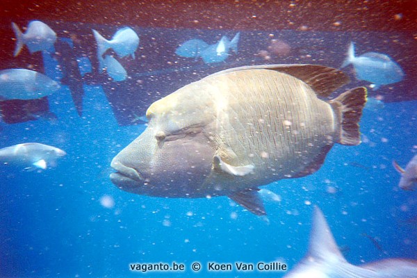
[[[347,58],[342,67],[352,64],[357,79],[372,83],[373,90],[381,85],[397,83],[404,79],[404,72],[400,65],[395,63],[389,56],[376,52],[368,52],[359,57],[354,56],[354,44],[350,43]]]

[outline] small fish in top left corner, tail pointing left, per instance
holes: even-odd
[[[20,31],[17,24],[12,22],[12,28],[16,35],[15,57],[19,55],[24,44],[31,54],[36,51],[51,50],[56,42],[56,33],[47,24],[39,21],[29,22],[26,33]]]

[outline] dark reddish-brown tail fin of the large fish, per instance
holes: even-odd
[[[360,144],[359,120],[366,104],[366,94],[365,87],[357,87],[343,92],[330,101],[340,126],[339,136],[336,138],[339,144],[350,146]]]

